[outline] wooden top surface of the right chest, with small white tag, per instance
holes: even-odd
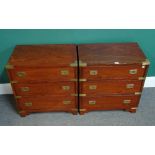
[[[88,65],[135,64],[146,59],[137,43],[83,44],[78,51],[80,60]]]

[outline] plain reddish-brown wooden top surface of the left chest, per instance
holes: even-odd
[[[69,66],[76,59],[76,46],[72,44],[17,45],[8,63],[23,67]]]

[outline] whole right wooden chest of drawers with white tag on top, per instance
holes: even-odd
[[[80,114],[93,110],[136,112],[149,61],[136,43],[78,46]]]

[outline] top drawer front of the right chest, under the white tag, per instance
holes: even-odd
[[[86,79],[138,79],[145,75],[145,66],[103,66],[85,67],[80,71],[80,77]]]

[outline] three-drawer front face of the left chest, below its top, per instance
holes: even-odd
[[[76,68],[22,68],[9,70],[17,108],[26,111],[77,112]]]

